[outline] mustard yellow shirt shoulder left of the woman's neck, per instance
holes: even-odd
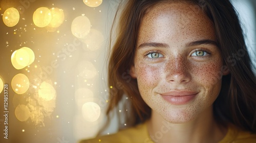
[[[121,130],[115,134],[98,136],[93,139],[81,140],[79,143],[105,143],[105,142],[118,142],[118,143],[136,143],[148,140],[146,124],[140,124],[135,127]]]

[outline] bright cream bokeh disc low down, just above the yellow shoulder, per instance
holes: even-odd
[[[84,103],[82,106],[82,116],[89,122],[97,121],[100,116],[100,107],[94,102]]]

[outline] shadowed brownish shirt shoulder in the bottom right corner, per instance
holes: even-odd
[[[238,129],[234,125],[229,125],[228,132],[226,136],[219,143],[255,143],[256,142],[256,134],[251,133],[249,131],[244,131]]]

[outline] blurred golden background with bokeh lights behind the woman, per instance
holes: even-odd
[[[106,55],[119,0],[0,2],[0,142],[94,137],[105,122]],[[256,1],[232,3],[255,59]],[[104,133],[118,126],[115,114]]]

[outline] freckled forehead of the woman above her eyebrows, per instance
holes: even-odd
[[[184,3],[158,4],[143,17],[138,44],[165,38],[216,40],[214,25],[201,8]]]

